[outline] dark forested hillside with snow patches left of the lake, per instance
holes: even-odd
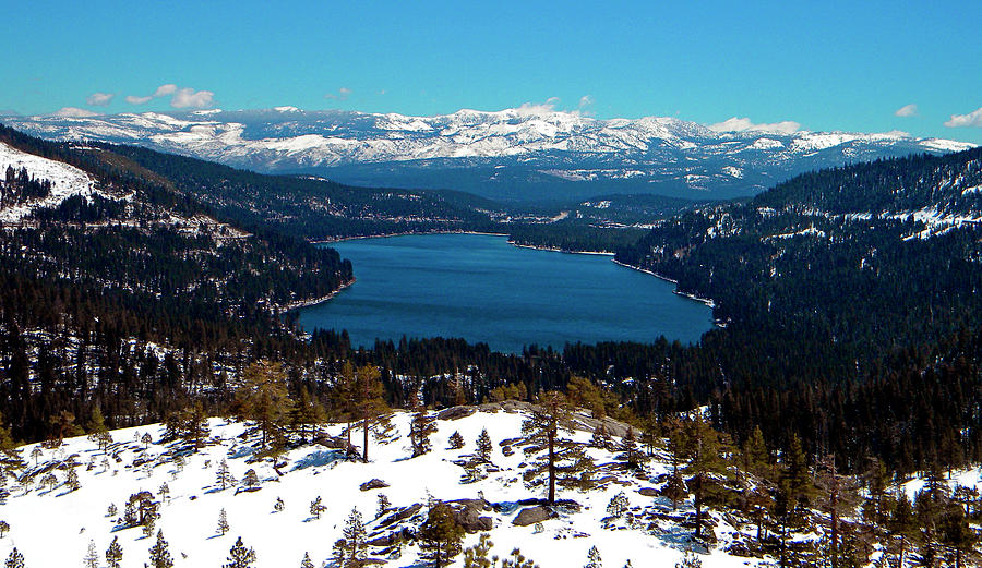
[[[19,438],[94,404],[137,424],[215,397],[243,351],[297,341],[283,312],[352,278],[335,251],[219,220],[118,155],[0,134],[92,180],[74,193],[29,172],[0,181],[5,210],[28,212],[0,229],[0,412]]]

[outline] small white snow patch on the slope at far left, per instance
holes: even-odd
[[[0,142],[0,177],[5,176],[7,168],[14,170],[27,168],[27,173],[38,180],[51,181],[51,194],[13,207],[0,208],[0,225],[21,221],[38,207],[53,207],[72,195],[92,195],[94,181],[88,173],[61,161],[27,154]]]

